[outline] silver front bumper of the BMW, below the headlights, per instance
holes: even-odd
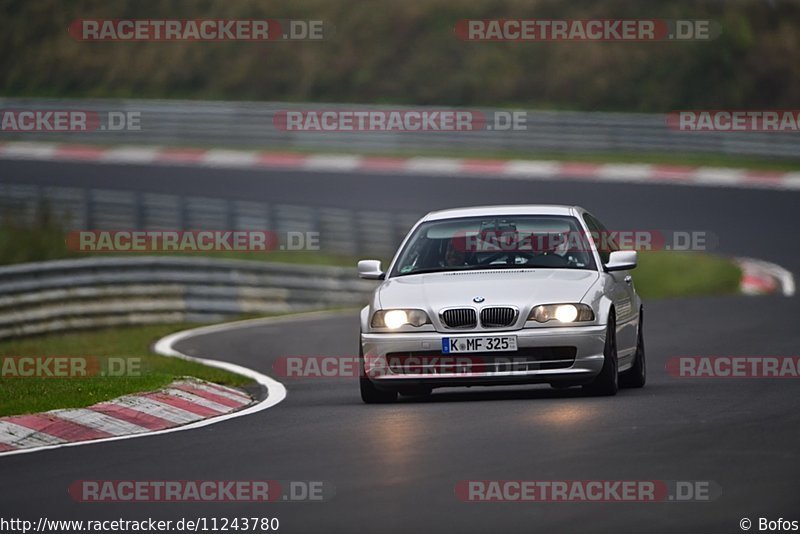
[[[486,336],[516,336],[517,351],[440,352],[442,338]],[[366,376],[378,387],[581,384],[590,382],[603,367],[605,337],[604,325],[452,334],[368,333],[361,334],[361,347]],[[549,356],[564,354],[567,348],[574,348],[574,359]],[[413,365],[402,361],[398,365],[402,357],[411,358]]]

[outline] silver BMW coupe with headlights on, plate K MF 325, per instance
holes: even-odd
[[[636,252],[577,206],[432,212],[411,229],[361,310],[366,403],[433,388],[547,383],[593,395],[642,387]]]

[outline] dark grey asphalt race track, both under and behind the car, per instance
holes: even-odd
[[[719,252],[800,272],[792,224],[800,193],[19,161],[1,161],[0,177],[405,211],[580,204],[612,228],[706,230],[719,237]],[[546,386],[437,390],[429,401],[367,406],[355,379],[282,380],[287,399],[248,417],[2,458],[0,502],[5,515],[32,520],[275,516],[283,532],[741,532],[743,517],[800,519],[798,380],[686,379],[664,368],[674,356],[796,356],[797,299],[645,307],[642,390],[612,398]],[[354,355],[357,335],[356,314],[343,313],[209,334],[176,348],[271,374],[279,356]],[[322,503],[81,504],[67,488],[84,479],[324,480],[336,495]],[[722,495],[607,504],[456,498],[458,481],[488,479],[710,480]]]

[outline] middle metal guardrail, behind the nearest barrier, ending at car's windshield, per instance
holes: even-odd
[[[0,183],[0,217],[32,223],[39,206],[70,230],[269,230],[315,232],[321,252],[394,254],[422,215],[156,194]]]

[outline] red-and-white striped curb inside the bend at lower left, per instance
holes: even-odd
[[[197,379],[125,395],[87,408],[0,418],[0,451],[60,445],[164,430],[217,417],[252,404],[245,392]]]

